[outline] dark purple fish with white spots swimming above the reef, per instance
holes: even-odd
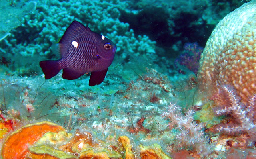
[[[110,39],[77,21],[73,21],[66,29],[55,49],[61,59],[39,63],[45,79],[54,77],[61,69],[62,78],[68,80],[91,72],[89,86],[103,82],[116,53],[116,46]]]

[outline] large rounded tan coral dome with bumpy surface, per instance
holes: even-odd
[[[199,90],[208,95],[228,84],[247,103],[256,94],[256,1],[243,4],[221,20],[200,59]]]

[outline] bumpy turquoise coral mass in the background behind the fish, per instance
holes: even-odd
[[[39,1],[36,12],[27,15],[27,21],[14,31],[11,38],[15,40],[5,41],[9,47],[4,50],[12,49],[22,56],[49,55],[49,47],[58,42],[73,20],[78,20],[116,43],[117,52],[154,53],[156,42],[150,41],[146,35],[135,37],[129,24],[118,19],[118,8],[126,8],[126,5],[122,1]],[[18,34],[30,36],[21,39]]]

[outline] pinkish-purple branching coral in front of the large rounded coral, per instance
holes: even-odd
[[[210,130],[227,135],[247,133],[252,141],[256,141],[256,95],[251,96],[248,104],[244,105],[232,88],[223,86],[214,100],[218,105],[214,108],[216,114],[229,115],[231,118],[228,123],[215,125]]]

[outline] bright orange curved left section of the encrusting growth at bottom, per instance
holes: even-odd
[[[2,157],[3,159],[24,159],[29,145],[33,145],[47,132],[59,131],[64,131],[64,128],[51,122],[38,122],[23,126],[8,135],[2,147]]]

